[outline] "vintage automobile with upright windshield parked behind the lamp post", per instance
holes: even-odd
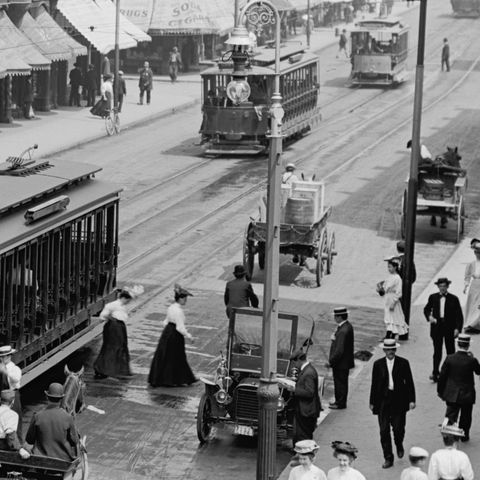
[[[212,378],[205,384],[198,405],[197,435],[200,443],[209,440],[216,424],[233,426],[233,433],[253,437],[258,432],[258,387],[262,365],[263,312],[251,308],[234,309],[230,318],[226,354]],[[313,343],[313,320],[279,313],[277,375],[294,375],[290,356],[298,348],[305,351]],[[280,387],[277,431],[290,435],[293,426],[292,393]]]

